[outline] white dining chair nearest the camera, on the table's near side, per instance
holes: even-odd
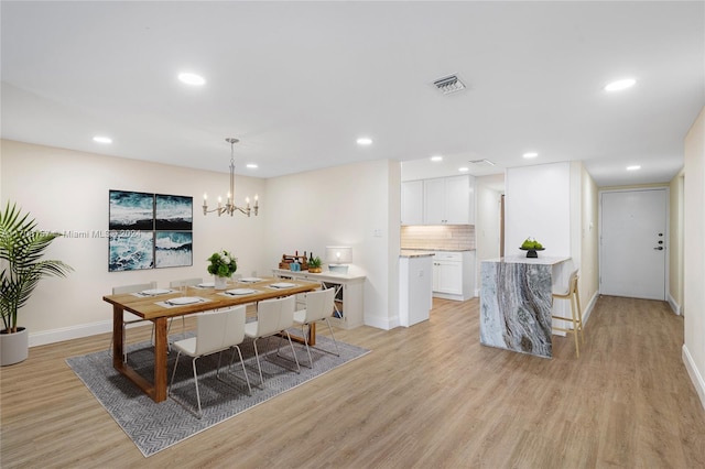
[[[196,337],[191,337],[183,340],[177,340],[173,343],[173,348],[177,350],[176,362],[174,363],[174,370],[172,372],[172,379],[169,385],[169,395],[181,404],[187,411],[194,413],[196,417],[203,417],[203,410],[200,407],[200,392],[198,390],[198,372],[196,370],[196,360],[200,357],[205,357],[213,353],[220,353],[230,348],[232,351],[232,360],[235,360],[235,351],[237,350],[240,357],[240,364],[242,366],[242,372],[245,374],[245,381],[247,382],[248,394],[252,393],[250,386],[250,380],[245,369],[245,362],[242,360],[242,352],[240,351],[240,343],[245,340],[245,306],[236,306],[229,309],[221,309],[216,312],[199,313],[197,315]],[[181,399],[173,394],[174,378],[176,377],[176,368],[178,367],[178,359],[182,355],[192,357],[192,367],[194,371],[194,383],[196,385],[196,402],[198,411],[194,412],[193,408],[183,402]],[[216,379],[220,382],[231,385],[227,381],[220,378],[220,355],[218,356],[218,364],[216,369]],[[228,367],[229,368],[229,367]]]

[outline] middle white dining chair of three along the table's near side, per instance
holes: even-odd
[[[260,386],[264,384],[264,379],[262,378],[262,364],[260,363],[260,356],[257,348],[257,341],[261,338],[270,338],[276,334],[286,336],[292,355],[294,356],[294,361],[296,362],[296,372],[301,372],[299,359],[294,351],[294,345],[292,343],[291,336],[286,330],[294,325],[295,301],[295,295],[261,301],[257,305],[257,320],[245,325],[245,335],[252,339],[252,345],[254,346],[257,368],[260,372]],[[276,349],[276,353],[279,355],[279,348]]]

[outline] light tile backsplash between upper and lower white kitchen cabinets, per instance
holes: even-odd
[[[402,249],[475,249],[474,225],[402,226]]]

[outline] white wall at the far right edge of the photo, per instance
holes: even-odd
[[[705,108],[685,138],[683,361],[705,407]]]

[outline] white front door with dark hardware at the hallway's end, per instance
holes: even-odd
[[[603,295],[665,299],[666,209],[665,188],[601,193]]]

